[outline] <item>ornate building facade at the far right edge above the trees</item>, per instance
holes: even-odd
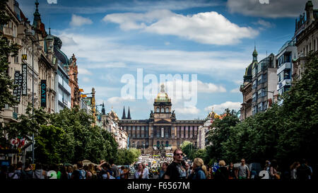
[[[314,52],[317,55],[318,50],[318,9],[314,9],[312,1],[307,1],[305,13],[296,19],[295,39],[298,57],[293,61],[293,80],[302,78],[305,72],[307,54]]]

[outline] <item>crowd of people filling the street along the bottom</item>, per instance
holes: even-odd
[[[213,166],[204,165],[204,160],[194,158],[192,163],[184,161],[181,149],[176,149],[173,153],[172,162],[161,163],[160,170],[156,172],[159,179],[281,179],[281,172],[278,170],[276,160],[266,160],[264,168],[257,165],[245,163],[241,160],[240,165],[230,163],[226,165],[224,160]],[[30,163],[19,162],[16,165],[1,166],[0,179],[58,179],[58,180],[81,180],[81,179],[129,179],[131,170],[129,166],[117,167],[113,160],[106,162],[101,160],[99,165],[89,163],[84,165],[78,161],[75,165],[42,165],[36,163],[35,168]],[[153,171],[149,171],[145,163],[139,162],[134,172],[134,179],[149,179]],[[310,180],[312,168],[305,159],[290,165],[290,175],[288,179]]]

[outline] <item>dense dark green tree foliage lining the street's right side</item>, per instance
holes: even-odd
[[[309,54],[305,73],[282,96],[282,105],[274,104],[238,122],[231,112],[216,119],[206,147],[206,161],[224,159],[237,162],[263,162],[277,159],[281,163],[307,158],[317,163],[318,148],[318,59]],[[228,113],[228,112],[227,112]]]

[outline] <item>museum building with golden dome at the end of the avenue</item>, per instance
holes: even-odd
[[[150,154],[172,152],[183,141],[197,146],[198,129],[204,120],[177,120],[171,107],[171,99],[162,85],[148,119],[119,119],[119,127],[128,133],[128,146]]]

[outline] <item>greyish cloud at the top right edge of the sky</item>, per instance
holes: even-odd
[[[317,1],[313,1],[317,6]],[[269,0],[269,4],[260,4],[259,0],[228,0],[227,7],[231,13],[264,18],[295,18],[305,12],[306,1]]]

